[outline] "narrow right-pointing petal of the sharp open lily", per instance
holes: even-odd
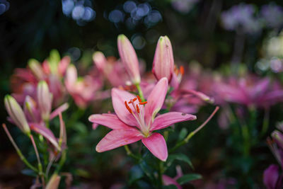
[[[187,113],[164,113],[162,115],[158,115],[154,119],[154,123],[151,125],[151,130],[161,130],[165,127],[173,125],[176,122],[183,122],[188,120],[196,120],[197,116]]]

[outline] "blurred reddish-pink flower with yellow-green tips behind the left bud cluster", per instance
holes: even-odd
[[[12,96],[22,105],[25,101],[25,96],[35,98],[37,83],[43,80],[47,82],[53,95],[53,105],[62,103],[62,99],[65,96],[65,88],[61,80],[70,61],[70,57],[63,57],[62,59],[57,57],[57,59],[46,59],[40,64],[37,60],[30,59],[28,68],[16,69],[11,77]]]

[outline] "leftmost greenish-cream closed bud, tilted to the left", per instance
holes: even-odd
[[[8,115],[10,115],[13,122],[25,133],[30,134],[30,127],[28,126],[28,121],[25,118],[25,114],[21,106],[17,103],[15,98],[6,95],[4,98],[4,103]]]

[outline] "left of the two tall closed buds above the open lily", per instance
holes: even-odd
[[[118,50],[120,58],[129,74],[129,78],[133,84],[139,84],[141,82],[141,76],[139,75],[139,61],[137,54],[132,47],[131,42],[125,35],[118,36]]]

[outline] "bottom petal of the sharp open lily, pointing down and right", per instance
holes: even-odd
[[[150,137],[141,139],[141,141],[154,156],[161,159],[161,161],[166,161],[168,151],[165,139],[161,134],[155,132]]]

